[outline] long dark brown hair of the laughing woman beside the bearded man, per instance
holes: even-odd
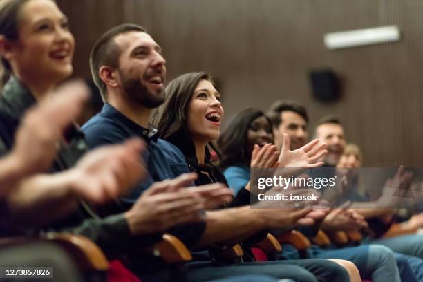
[[[156,113],[154,120],[159,132],[159,138],[176,145],[188,158],[196,159],[194,140],[187,129],[187,113],[189,103],[200,80],[213,82],[211,75],[205,72],[185,73],[173,79],[167,85],[165,91],[167,100]],[[209,142],[218,156],[220,153],[213,142]],[[209,157],[209,150],[206,149]]]

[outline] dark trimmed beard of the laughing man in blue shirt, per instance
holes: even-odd
[[[149,109],[157,108],[164,103],[164,89],[160,93],[153,94],[139,78],[126,77],[123,73],[120,73],[120,77],[124,93],[129,100],[134,100]]]

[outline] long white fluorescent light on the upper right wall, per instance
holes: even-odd
[[[382,26],[380,28],[328,33],[324,36],[324,42],[329,49],[341,49],[394,42],[399,41],[400,38],[400,28],[397,26]]]

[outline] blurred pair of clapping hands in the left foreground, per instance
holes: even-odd
[[[50,168],[64,131],[82,113],[88,95],[86,84],[75,80],[46,95],[26,112],[12,151],[6,156],[13,179],[8,179],[8,185],[0,185],[3,196],[22,180]],[[87,153],[72,169],[56,173],[57,189],[66,189],[66,194],[93,203],[115,198],[145,173],[140,163],[143,148],[141,140],[134,139]]]

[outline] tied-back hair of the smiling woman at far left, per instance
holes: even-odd
[[[10,41],[19,39],[19,11],[24,3],[29,0],[3,0],[0,2],[0,35]],[[10,64],[1,57],[3,73],[1,74],[1,85],[10,77]]]

